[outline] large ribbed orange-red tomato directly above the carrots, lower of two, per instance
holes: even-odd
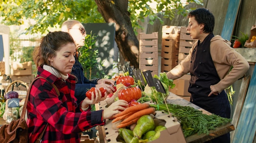
[[[139,87],[122,89],[118,92],[118,98],[121,100],[125,100],[128,103],[132,100],[138,100],[139,98],[141,98],[141,90],[139,89]]]

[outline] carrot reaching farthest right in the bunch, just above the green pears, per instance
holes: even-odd
[[[133,115],[127,117],[126,119],[124,119],[124,121],[122,121],[121,124],[130,122],[133,119],[136,119],[136,118],[141,117],[143,115],[149,115],[149,114],[154,113],[154,112],[155,112],[155,108],[154,107],[149,107],[149,108],[143,109],[143,110],[138,111],[138,112],[134,113]]]

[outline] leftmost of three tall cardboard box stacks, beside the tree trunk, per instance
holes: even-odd
[[[139,68],[158,75],[158,32],[139,33]]]

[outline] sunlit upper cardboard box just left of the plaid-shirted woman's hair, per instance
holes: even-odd
[[[18,63],[13,62],[11,64],[11,75],[31,75],[32,74],[32,62]]]

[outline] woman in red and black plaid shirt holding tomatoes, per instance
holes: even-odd
[[[42,143],[79,143],[79,132],[93,126],[104,125],[105,119],[124,110],[128,106],[119,100],[106,110],[90,111],[90,104],[106,99],[101,92],[95,93],[89,100],[85,98],[77,106],[74,97],[76,77],[69,74],[75,62],[76,46],[67,32],[49,32],[43,37],[40,45],[34,50],[34,62],[38,67],[38,76],[46,78],[56,85],[60,92],[57,95],[52,85],[43,78],[37,79],[31,87],[27,104],[27,125],[29,127],[29,143],[34,143],[45,126],[47,128]],[[80,109],[80,112],[76,108]]]

